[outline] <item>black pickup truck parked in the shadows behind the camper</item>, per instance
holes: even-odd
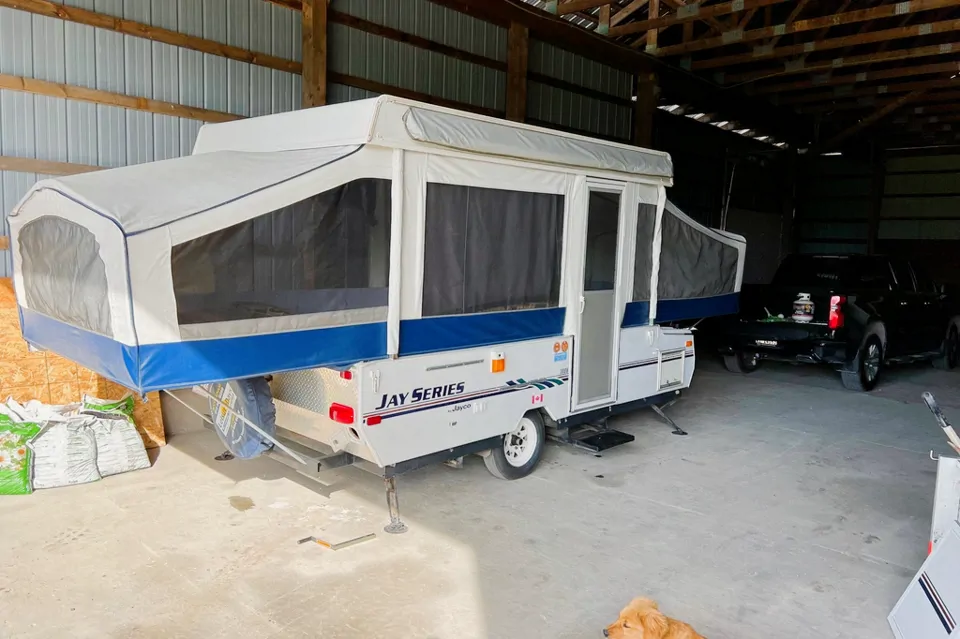
[[[794,318],[801,293],[812,319]],[[749,373],[760,360],[823,363],[843,385],[868,391],[885,364],[931,360],[954,368],[960,315],[923,269],[867,255],[791,255],[768,286],[744,287],[740,314],[719,336],[727,370]]]

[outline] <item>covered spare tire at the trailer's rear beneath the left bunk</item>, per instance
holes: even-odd
[[[229,382],[211,384],[209,391],[216,397],[222,397],[225,387],[229,387],[236,396],[233,401],[233,410],[256,424],[266,433],[273,436],[277,432],[277,407],[273,403],[273,393],[265,377],[251,377],[248,379],[234,379]],[[217,413],[220,402],[210,399],[210,416],[217,422]],[[232,421],[232,423],[230,423]],[[228,428],[228,430],[224,430]],[[226,420],[221,426],[214,427],[220,440],[234,457],[251,459],[273,448],[273,444],[247,424],[235,420]]]

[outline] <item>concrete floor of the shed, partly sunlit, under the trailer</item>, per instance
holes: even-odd
[[[522,481],[426,469],[401,481],[401,536],[373,476],[324,488],[175,434],[150,470],[0,501],[0,636],[579,639],[645,594],[711,639],[886,637],[947,450],[919,395],[960,422],[958,382],[913,367],[858,395],[701,362],[671,409],[689,437],[643,411],[616,422],[632,445],[550,445]]]

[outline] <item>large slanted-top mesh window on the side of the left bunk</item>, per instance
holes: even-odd
[[[389,268],[390,180],[354,180],[174,246],[177,319],[385,307]]]

